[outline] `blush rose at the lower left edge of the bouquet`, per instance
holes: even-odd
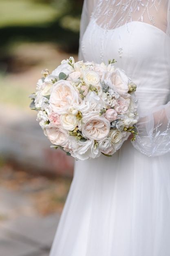
[[[46,136],[49,138],[52,144],[56,146],[67,147],[68,145],[68,133],[62,126],[45,126]]]

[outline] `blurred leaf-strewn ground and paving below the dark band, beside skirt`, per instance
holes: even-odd
[[[0,255],[48,256],[71,179],[0,167]]]

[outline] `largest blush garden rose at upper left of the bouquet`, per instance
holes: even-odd
[[[78,94],[68,81],[60,80],[53,85],[49,99],[52,112],[60,115],[76,102],[78,102]]]

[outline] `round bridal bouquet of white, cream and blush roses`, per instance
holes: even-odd
[[[63,60],[51,74],[43,70],[30,108],[55,148],[76,159],[113,155],[137,123],[136,85],[109,64]]]

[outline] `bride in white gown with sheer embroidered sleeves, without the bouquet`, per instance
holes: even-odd
[[[79,59],[115,59],[139,121],[112,157],[75,161],[50,256],[170,256],[170,0],[85,0]]]

